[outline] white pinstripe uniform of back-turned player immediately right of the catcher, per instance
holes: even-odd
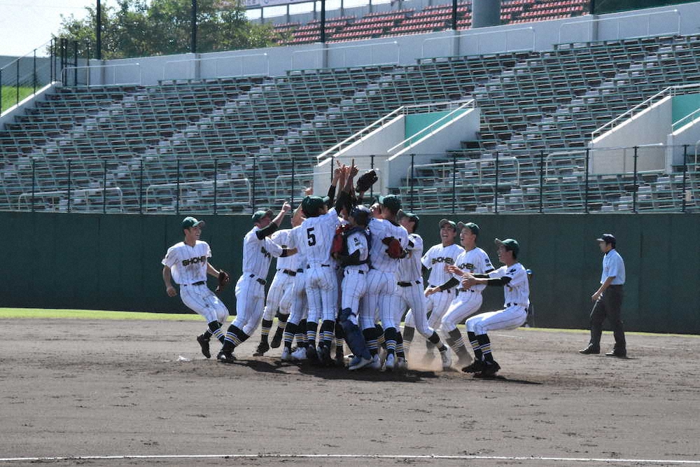
[[[397,328],[395,322],[395,307],[397,299],[396,272],[399,260],[391,258],[386,253],[386,245],[382,239],[394,237],[402,248],[408,244],[408,232],[401,225],[396,225],[384,219],[372,218],[367,226],[370,230],[370,272],[367,274],[367,293],[360,307],[360,328],[374,328],[378,312],[381,313],[381,324],[384,329]]]

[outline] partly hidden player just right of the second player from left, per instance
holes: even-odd
[[[297,209],[292,216],[292,227],[301,225],[303,221],[300,209]],[[288,248],[289,235],[291,229],[277,230],[270,239],[283,249]],[[269,285],[265,308],[262,309],[262,324],[260,326],[260,344],[253,356],[262,356],[272,347],[276,349],[282,342],[282,335],[289,317],[289,309],[292,305],[292,285],[294,277],[297,275],[298,256],[285,256],[277,258],[277,267],[272,284]],[[269,330],[272,328],[272,319],[279,309],[279,324],[272,337],[272,346],[267,342]]]

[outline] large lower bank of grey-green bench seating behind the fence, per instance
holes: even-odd
[[[55,211],[275,205],[298,199],[318,154],[398,106],[470,97],[482,112],[479,139],[391,187],[412,209],[691,209],[700,197],[694,156],[685,174],[587,177],[584,148],[591,131],[659,90],[698,82],[700,36],[661,36],[407,66],[64,87],[0,132],[0,209],[29,209],[32,197],[34,209]]]

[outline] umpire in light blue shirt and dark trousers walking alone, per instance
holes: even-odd
[[[603,255],[603,274],[601,286],[596,293],[591,295],[595,302],[591,311],[591,342],[588,347],[580,350],[582,354],[601,353],[601,334],[603,333],[603,320],[607,317],[612,326],[612,334],[615,336],[615,347],[605,354],[625,358],[627,356],[622,319],[622,286],[624,284],[624,261],[615,249],[615,236],[603,234],[597,239]]]

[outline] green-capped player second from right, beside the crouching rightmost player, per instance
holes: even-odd
[[[447,270],[452,274],[452,277],[447,283],[440,285],[440,288],[460,285],[459,281],[465,272],[489,274],[489,272],[493,271],[489,255],[476,245],[479,226],[473,222],[459,222],[457,223],[457,228],[459,229],[459,240],[464,248],[464,252],[457,257],[456,264],[447,266]],[[440,328],[442,328],[442,332],[447,334],[447,344],[457,355],[457,363],[460,368],[471,363],[471,356],[464,345],[462,333],[459,332],[457,324],[479,311],[482,305],[482,290],[485,287],[484,285],[475,285],[470,288],[458,288],[456,296],[450,303],[449,308],[447,308],[447,312],[442,316]]]

